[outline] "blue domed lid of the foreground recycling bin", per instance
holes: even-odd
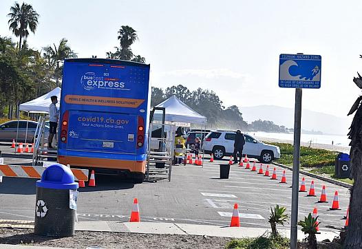
[[[74,182],[72,171],[63,164],[54,163],[48,166],[36,182],[37,187],[54,189],[76,189],[78,183]]]

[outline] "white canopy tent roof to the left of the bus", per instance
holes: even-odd
[[[61,99],[61,87],[56,87],[52,89],[52,91],[40,96],[39,98],[35,98],[34,100],[30,100],[19,105],[20,111],[28,111],[32,113],[49,113],[49,106],[52,104],[52,100],[50,97],[57,96],[58,100]],[[59,103],[56,105],[59,109]]]

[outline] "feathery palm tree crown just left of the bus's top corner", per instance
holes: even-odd
[[[59,42],[58,47],[53,43],[54,47],[44,47],[43,58],[47,61],[47,65],[54,68],[54,78],[56,85],[59,86],[59,80],[62,77],[63,61],[66,58],[76,58],[76,53],[67,44],[68,40],[63,38]]]

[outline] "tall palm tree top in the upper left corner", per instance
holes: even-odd
[[[9,29],[19,36],[19,50],[21,50],[21,41],[29,35],[28,28],[33,34],[35,33],[36,26],[38,25],[39,14],[32,8],[30,4],[23,3],[21,6],[19,3],[14,3],[14,6],[10,8],[10,17],[8,24]]]

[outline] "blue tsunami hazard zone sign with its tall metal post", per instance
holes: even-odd
[[[295,88],[290,248],[296,249],[298,231],[297,223],[302,88],[321,87],[321,56],[307,54],[281,54],[279,56],[279,87]]]

